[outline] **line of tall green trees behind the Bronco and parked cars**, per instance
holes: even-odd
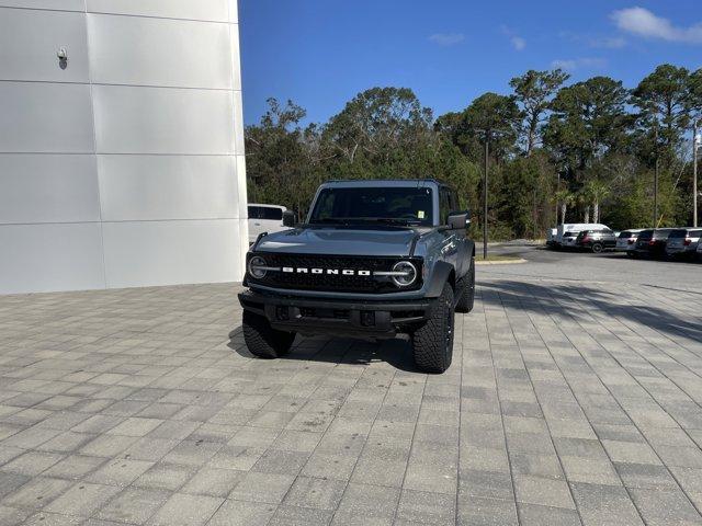
[[[615,229],[689,225],[691,129],[702,118],[702,69],[658,66],[634,89],[563,70],[514,77],[434,118],[408,88],[372,88],[327,123],[268,100],[246,127],[249,201],[304,217],[331,179],[437,178],[473,211],[479,238],[487,142],[488,227],[494,239],[539,238],[562,221]]]

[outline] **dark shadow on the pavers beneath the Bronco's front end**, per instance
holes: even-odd
[[[239,336],[239,338],[237,338]],[[240,338],[240,328],[229,333],[227,346],[239,356],[259,359],[246,347]],[[412,359],[409,342],[399,336],[393,340],[369,342],[352,339],[306,338],[297,335],[290,353],[279,359],[320,362],[338,365],[369,365],[386,362],[396,369],[419,373]]]

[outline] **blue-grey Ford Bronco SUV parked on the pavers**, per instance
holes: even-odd
[[[322,184],[306,222],[262,233],[247,254],[239,301],[249,351],[279,357],[296,333],[407,333],[420,369],[446,370],[454,310],[471,311],[475,294],[469,214],[457,208],[434,180]]]

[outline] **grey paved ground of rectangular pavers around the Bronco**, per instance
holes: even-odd
[[[440,376],[254,359],[231,284],[0,296],[0,524],[702,524],[702,265],[499,250]]]

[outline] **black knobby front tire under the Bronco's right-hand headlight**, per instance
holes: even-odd
[[[446,283],[431,318],[411,334],[415,364],[426,373],[443,373],[453,358],[453,288]]]

